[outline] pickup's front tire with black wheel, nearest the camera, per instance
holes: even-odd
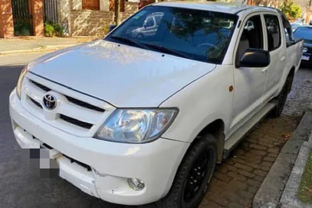
[[[159,208],[198,207],[213,174],[217,161],[216,149],[216,140],[211,134],[206,134],[195,141],[185,154],[169,193],[156,203],[157,206]]]

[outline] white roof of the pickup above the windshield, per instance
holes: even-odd
[[[234,3],[219,3],[211,1],[172,1],[172,2],[154,3],[153,5],[208,10],[230,14],[236,14],[243,10],[271,11],[271,12],[274,11],[274,9],[268,7],[249,6],[246,4],[234,4]]]

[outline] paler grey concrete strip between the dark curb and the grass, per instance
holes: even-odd
[[[312,135],[310,135],[309,141],[304,142],[300,148],[296,163],[291,171],[285,190],[281,196],[280,204],[282,208],[312,207],[312,205],[301,202],[297,197],[301,178],[304,172],[305,164],[309,158],[311,148]]]

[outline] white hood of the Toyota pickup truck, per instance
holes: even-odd
[[[157,107],[215,66],[97,40],[40,57],[29,70],[116,107]]]

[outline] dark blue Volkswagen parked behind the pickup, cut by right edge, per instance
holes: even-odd
[[[312,26],[300,26],[293,33],[295,39],[304,40],[302,64],[312,65]]]

